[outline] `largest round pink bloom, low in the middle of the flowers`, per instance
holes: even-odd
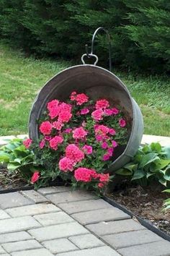
[[[75,144],[69,144],[66,147],[66,157],[78,163],[84,159],[84,152],[81,151]]]

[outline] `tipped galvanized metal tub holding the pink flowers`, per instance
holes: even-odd
[[[45,111],[48,101],[54,98],[65,101],[74,90],[87,93],[94,101],[107,98],[125,111],[130,122],[128,144],[119,148],[116,160],[109,166],[107,171],[112,173],[128,163],[138,150],[143,136],[143,116],[123,82],[107,69],[83,64],[65,69],[51,78],[40,90],[30,111],[30,138],[37,140],[39,137],[37,121]]]

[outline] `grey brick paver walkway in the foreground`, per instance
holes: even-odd
[[[0,195],[0,256],[169,256],[170,242],[87,192]]]

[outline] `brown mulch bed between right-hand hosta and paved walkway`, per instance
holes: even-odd
[[[156,226],[170,236],[170,211],[162,211],[162,205],[169,195],[162,193],[162,187],[124,187],[107,193],[107,197],[124,206],[136,216]]]

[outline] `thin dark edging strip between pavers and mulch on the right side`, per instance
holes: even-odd
[[[170,242],[170,236],[166,233],[164,233],[164,231],[161,231],[160,229],[157,229],[155,226],[153,226],[152,223],[149,223],[148,221],[146,221],[143,218],[140,218],[139,216],[135,215],[135,213],[131,212],[130,210],[126,209],[124,206],[119,205],[117,202],[115,202],[114,200],[110,199],[109,197],[102,195],[102,199],[106,202],[108,202],[110,205],[115,206],[116,208],[122,210],[124,213],[127,213],[128,215],[130,215],[132,218],[135,218],[138,220],[138,222],[145,226],[147,229],[153,231],[155,234],[157,234],[158,236],[161,236],[163,239],[166,239],[167,241]]]

